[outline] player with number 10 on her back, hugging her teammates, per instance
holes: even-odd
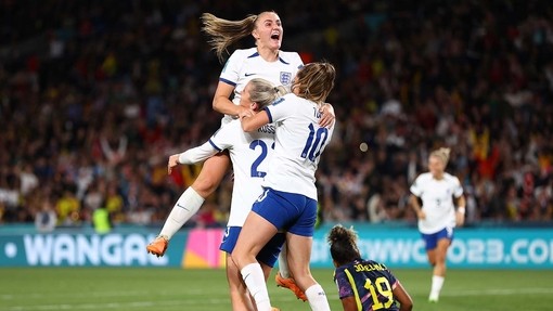
[[[326,295],[309,270],[317,219],[316,170],[334,127],[319,126],[320,107],[334,87],[336,70],[329,63],[310,63],[294,78],[292,93],[262,112],[241,115],[242,129],[275,125],[275,146],[263,194],[252,207],[232,258],[258,311],[271,308],[257,254],[276,232],[286,231],[288,268],[312,310],[330,310]],[[293,251],[292,251],[293,250]]]

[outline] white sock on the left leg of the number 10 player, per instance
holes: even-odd
[[[265,283],[265,274],[258,262],[249,263],[240,271],[258,311],[271,311],[271,301]]]

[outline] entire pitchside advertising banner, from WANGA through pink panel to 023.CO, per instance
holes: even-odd
[[[326,243],[329,225],[316,231],[312,268],[331,268]],[[427,268],[419,232],[407,226],[355,225],[364,258],[390,268]],[[30,230],[0,230],[0,267],[185,267],[222,268],[218,247],[223,231],[180,231],[167,254],[156,258],[145,246],[155,237],[146,229],[98,235],[62,231],[40,234]],[[553,269],[553,229],[459,229],[448,254],[449,268]]]

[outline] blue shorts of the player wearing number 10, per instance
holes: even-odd
[[[313,236],[317,221],[317,200],[301,194],[263,189],[252,211],[276,229],[301,236]]]

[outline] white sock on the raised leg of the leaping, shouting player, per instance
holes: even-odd
[[[179,229],[181,229],[182,225],[184,225],[184,223],[197,212],[200,207],[202,207],[202,204],[204,204],[204,200],[205,198],[189,186],[172,207],[159,235],[170,239],[175,233],[177,233],[177,231],[179,231]]]

